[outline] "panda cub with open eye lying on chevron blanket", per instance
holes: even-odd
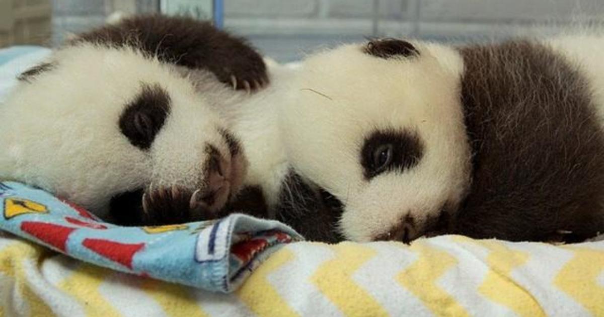
[[[323,213],[345,239],[593,237],[604,232],[603,49],[602,36],[574,35],[315,54],[279,109],[284,156],[340,203]]]

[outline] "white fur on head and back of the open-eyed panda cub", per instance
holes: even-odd
[[[549,40],[588,78],[604,118],[604,36],[574,33]],[[361,44],[344,45],[303,62],[280,107],[280,133],[289,164],[344,203],[344,237],[368,241],[399,225],[406,214],[421,222],[443,203],[457,208],[471,183],[454,48],[412,42],[420,56],[379,59]],[[361,147],[375,129],[411,129],[424,142],[419,165],[366,181]]]

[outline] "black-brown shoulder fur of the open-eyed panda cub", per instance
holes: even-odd
[[[474,183],[457,233],[576,241],[604,231],[604,134],[579,69],[526,41],[461,54]]]

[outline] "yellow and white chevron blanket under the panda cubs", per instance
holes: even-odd
[[[53,315],[604,316],[604,241],[298,242],[222,294],[92,266],[0,233],[0,316]]]

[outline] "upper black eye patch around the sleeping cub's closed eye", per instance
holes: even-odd
[[[143,84],[140,94],[121,114],[121,133],[133,146],[147,150],[169,113],[170,95],[158,84]]]

